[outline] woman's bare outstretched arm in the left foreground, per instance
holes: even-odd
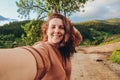
[[[34,80],[34,56],[21,48],[0,49],[0,80]]]

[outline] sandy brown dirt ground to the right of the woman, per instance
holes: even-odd
[[[120,43],[78,47],[72,57],[71,80],[120,80],[120,65],[107,60],[116,47]]]

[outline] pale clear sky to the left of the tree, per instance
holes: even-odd
[[[18,18],[17,6],[15,4],[19,0],[1,0],[0,2],[0,15],[6,18],[11,19],[20,19]]]

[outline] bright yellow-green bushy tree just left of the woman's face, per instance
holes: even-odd
[[[40,40],[41,38],[40,26],[42,23],[43,21],[40,20],[31,20],[24,26],[21,26],[25,31],[25,34],[21,36],[24,45],[33,45],[35,42]]]

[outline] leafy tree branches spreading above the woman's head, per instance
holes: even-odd
[[[17,12],[20,17],[30,18],[30,13],[37,13],[37,18],[45,18],[51,12],[62,13],[70,16],[73,12],[80,11],[88,0],[20,0],[16,2]]]

